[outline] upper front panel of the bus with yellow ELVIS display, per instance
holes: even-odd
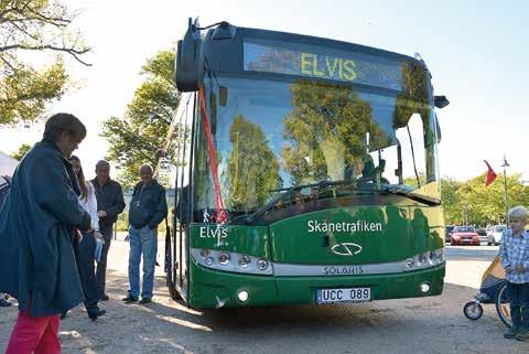
[[[206,69],[253,77],[310,77],[404,92],[402,71],[428,79],[425,64],[414,57],[366,45],[317,36],[236,28],[226,23],[202,41]],[[429,86],[429,85],[427,85]]]

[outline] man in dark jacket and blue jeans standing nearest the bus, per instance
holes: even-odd
[[[129,208],[129,293],[123,301],[138,301],[140,296],[140,259],[143,253],[143,288],[140,303],[149,303],[154,286],[158,250],[158,225],[168,216],[165,190],[152,179],[152,168],[140,169],[141,182],[134,187]]]

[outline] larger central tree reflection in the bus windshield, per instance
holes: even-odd
[[[348,87],[302,81],[292,84],[291,92],[292,111],[283,121],[283,138],[290,146],[282,155],[292,183],[326,180],[343,173],[344,165],[360,171],[366,132],[371,150],[388,146],[390,138],[373,119],[370,104]]]

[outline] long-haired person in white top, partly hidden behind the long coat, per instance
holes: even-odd
[[[85,180],[79,158],[72,155],[69,158],[69,163],[72,163],[72,168],[77,175],[77,182],[79,183],[79,204],[88,212],[88,214],[90,214],[91,229],[94,230],[93,233],[83,234],[83,238],[78,244],[77,269],[79,271],[80,282],[85,294],[84,301],[86,311],[91,320],[97,320],[97,318],[104,315],[106,311],[101,310],[97,304],[95,250],[96,242],[98,239],[101,242],[102,236],[99,233],[96,190],[90,182]]]

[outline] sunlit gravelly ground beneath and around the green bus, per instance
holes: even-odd
[[[127,251],[127,243],[112,244],[108,314],[93,322],[74,309],[62,323],[63,353],[529,353],[529,343],[501,337],[493,305],[475,322],[462,313],[497,247],[449,246],[445,289],[435,298],[215,311],[172,301],[160,267],[155,303],[121,303]],[[0,352],[15,315],[14,307],[0,310]]]

